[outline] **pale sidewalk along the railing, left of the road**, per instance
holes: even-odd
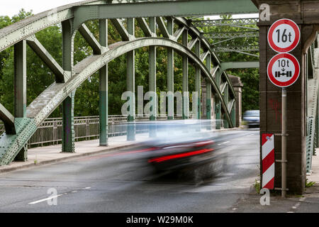
[[[106,151],[118,150],[138,143],[142,140],[147,140],[149,139],[149,135],[148,133],[141,133],[137,134],[135,138],[135,141],[127,141],[126,135],[111,137],[108,138],[108,146],[99,146],[99,140],[84,140],[75,142],[75,153],[61,153],[61,144],[30,148],[28,149],[27,162],[11,162],[10,165],[0,166],[0,173],[20,170],[35,165],[58,162],[74,157],[82,157],[86,155],[103,153]]]

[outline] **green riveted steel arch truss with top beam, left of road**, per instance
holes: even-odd
[[[125,2],[125,3],[123,3]],[[237,7],[233,7],[236,4]],[[225,126],[235,125],[235,92],[223,70],[223,66],[211,49],[211,44],[201,32],[182,17],[191,15],[212,15],[220,13],[256,13],[257,9],[247,0],[196,0],[196,1],[81,1],[57,8],[54,13],[46,11],[30,16],[18,23],[0,30],[0,51],[14,46],[15,54],[15,112],[10,114],[0,104],[0,118],[6,132],[0,136],[0,165],[8,165],[15,157],[26,160],[26,143],[57,106],[62,104],[63,130],[62,152],[74,152],[74,94],[91,74],[100,74],[100,145],[108,145],[108,62],[121,55],[127,56],[128,91],[135,89],[134,51],[150,47],[150,91],[156,91],[156,46],[167,48],[167,89],[174,92],[174,52],[183,57],[183,91],[188,92],[188,63],[196,68],[196,92],[201,92],[201,77],[206,81],[206,110],[211,118],[211,96],[214,94],[216,118],[223,114]],[[165,16],[166,18],[163,18]],[[173,17],[174,16],[174,17]],[[120,18],[127,18],[127,28]],[[148,18],[149,23],[145,18]],[[99,20],[99,41],[94,38],[84,22]],[[122,41],[108,45],[107,21],[110,20]],[[135,38],[135,19],[145,33],[144,38]],[[165,23],[167,21],[167,25]],[[47,27],[62,23],[62,66],[58,65],[47,50],[35,38],[35,33]],[[174,31],[174,26],[177,30]],[[162,37],[156,35],[159,28]],[[79,33],[91,45],[94,54],[73,65],[74,35]],[[188,35],[191,36],[189,41]],[[181,37],[181,43],[179,43]],[[26,106],[26,45],[54,72],[55,82],[47,87],[29,106]],[[195,47],[194,52],[192,48]],[[204,63],[206,61],[206,63]],[[173,94],[169,99],[173,100]],[[188,97],[185,97],[187,100]],[[156,99],[152,100],[156,101]],[[133,100],[135,103],[135,100]],[[187,101],[184,101],[188,105]],[[201,117],[201,96],[198,95],[197,118]],[[174,102],[171,102],[174,106]],[[174,109],[174,108],[173,108]],[[223,113],[222,113],[223,111]],[[155,120],[157,112],[151,110],[150,119]],[[187,113],[184,113],[186,116]],[[134,121],[135,113],[128,116]],[[174,116],[174,115],[173,115]],[[132,124],[133,126],[133,124]],[[216,126],[218,128],[218,126]],[[134,140],[135,129],[128,133],[128,140]]]

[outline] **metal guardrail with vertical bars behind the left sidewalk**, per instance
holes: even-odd
[[[150,116],[135,116],[135,121],[149,121]],[[174,119],[181,119],[174,116]],[[157,121],[167,120],[167,115],[157,116]],[[126,135],[127,116],[108,116],[108,137]],[[136,133],[147,131],[143,125],[136,127]],[[0,124],[0,133],[4,133],[4,125]],[[74,117],[75,141],[99,138],[99,116]],[[62,118],[47,118],[28,140],[28,148],[44,145],[55,145],[62,142]]]

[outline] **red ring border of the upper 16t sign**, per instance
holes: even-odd
[[[274,44],[274,41],[272,40],[272,34],[274,33],[274,30],[276,29],[277,26],[281,25],[281,24],[288,24],[289,26],[291,26],[293,28],[293,31],[295,31],[295,40],[293,40],[293,43],[291,43],[291,45],[288,48],[279,48],[276,44]],[[268,43],[269,46],[272,48],[272,50],[276,51],[276,52],[290,52],[291,50],[293,50],[294,48],[296,48],[296,46],[299,43],[300,40],[300,30],[299,27],[297,26],[297,24],[294,21],[291,21],[290,19],[279,19],[278,21],[275,21],[272,26],[270,26],[269,31],[268,31]]]

